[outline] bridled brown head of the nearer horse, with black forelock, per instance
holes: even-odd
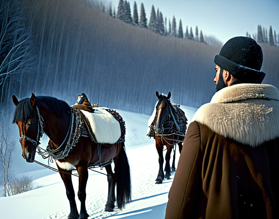
[[[32,93],[31,98],[21,101],[12,96],[14,105],[16,105],[13,123],[17,123],[19,128],[20,143],[22,147],[22,156],[27,162],[34,162],[36,147],[38,146],[38,115],[36,107],[36,97]]]

